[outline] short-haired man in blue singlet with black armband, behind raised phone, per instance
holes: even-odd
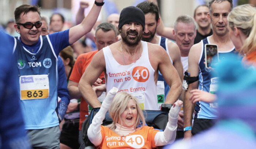
[[[209,2],[208,20],[212,24],[213,35],[203,39],[200,43],[191,47],[188,55],[188,72],[191,77],[199,76],[199,81],[195,81],[188,85],[185,93],[184,102],[184,137],[189,138],[200,131],[206,130],[214,125],[216,116],[216,104],[206,102],[196,102],[196,106],[189,100],[192,89],[199,89],[214,93],[215,84],[218,78],[211,76],[211,70],[204,64],[204,45],[217,44],[219,59],[225,59],[229,53],[234,53],[234,45],[229,39],[229,31],[227,29],[227,15],[232,10],[232,0],[211,0]],[[191,128],[192,113],[195,108],[196,114]]]

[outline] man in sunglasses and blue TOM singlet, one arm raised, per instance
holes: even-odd
[[[95,1],[89,15],[63,32],[41,36],[38,7],[21,5],[15,9],[14,25],[19,37],[11,37],[17,66],[16,85],[20,93],[25,129],[34,148],[59,148],[59,120],[63,119],[68,103],[57,108],[57,59],[59,52],[91,30],[97,20],[103,0]]]

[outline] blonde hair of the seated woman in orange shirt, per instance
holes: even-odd
[[[141,129],[143,126],[145,126],[145,118],[142,112],[142,109],[139,106],[139,102],[137,100],[137,98],[135,98],[134,96],[132,96],[131,94],[125,93],[125,92],[119,92],[116,94],[116,96],[114,97],[110,108],[109,108],[109,114],[110,117],[113,120],[113,123],[108,125],[107,127],[110,128],[111,130],[116,129],[116,123],[118,120],[121,121],[121,126],[123,126],[123,122],[121,119],[121,114],[124,112],[129,100],[132,99],[135,101],[136,103],[136,109],[137,109],[137,118],[135,121],[135,125],[134,125],[134,129],[136,129],[136,126],[140,125],[140,121],[142,121],[142,125],[141,127],[139,127],[137,130]]]

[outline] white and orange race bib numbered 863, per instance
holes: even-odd
[[[48,75],[19,77],[20,100],[44,99],[49,97]]]

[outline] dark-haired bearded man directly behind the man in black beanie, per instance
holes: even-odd
[[[157,5],[149,1],[143,1],[142,3],[139,3],[136,7],[142,9],[145,14],[145,29],[142,35],[142,41],[161,45],[161,47],[163,47],[168,53],[174,68],[176,68],[180,78],[182,79],[183,69],[180,59],[180,49],[178,48],[178,45],[164,37],[155,35],[157,31],[157,26],[160,23]],[[165,101],[166,96],[170,90],[169,85],[166,83],[160,72],[158,74],[157,88],[158,104],[160,109],[161,104],[163,104],[163,102]]]

